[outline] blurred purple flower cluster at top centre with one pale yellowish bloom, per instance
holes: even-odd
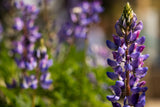
[[[89,26],[99,21],[99,13],[103,12],[101,2],[95,0],[93,2],[83,1],[77,6],[71,8],[71,21],[64,24],[60,30],[59,36],[75,36],[78,38],[86,38]]]

